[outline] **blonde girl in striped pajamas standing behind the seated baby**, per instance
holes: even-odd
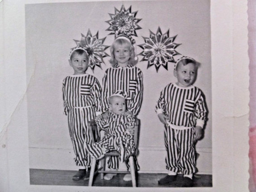
[[[103,117],[106,118],[109,111],[109,97],[118,90],[125,92],[127,111],[124,116],[136,116],[139,113],[142,102],[143,92],[143,75],[137,64],[134,47],[131,40],[125,35],[117,37],[110,47],[112,67],[108,68],[103,77],[103,91],[102,91],[102,110]],[[135,164],[137,170],[137,158],[135,157]],[[119,161],[117,157],[110,157],[108,167],[112,169],[119,168]],[[104,179],[110,180],[113,174],[106,174]],[[131,175],[125,175],[124,180],[131,180]]]

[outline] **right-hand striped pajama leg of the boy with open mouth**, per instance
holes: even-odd
[[[180,133],[179,145],[181,148],[181,160],[179,167],[182,174],[192,179],[193,174],[197,171],[193,128],[181,130]]]

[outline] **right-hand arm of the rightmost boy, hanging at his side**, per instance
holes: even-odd
[[[195,103],[196,126],[194,127],[195,140],[199,140],[203,135],[204,122],[207,120],[207,106],[203,92],[199,95],[199,100]]]

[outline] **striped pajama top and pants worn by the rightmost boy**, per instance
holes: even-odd
[[[184,175],[195,173],[197,168],[193,130],[197,119],[207,119],[203,92],[198,87],[178,87],[170,83],[161,92],[156,111],[167,115],[168,121],[173,125],[189,127],[179,130],[165,125],[166,168],[176,173],[180,170]]]

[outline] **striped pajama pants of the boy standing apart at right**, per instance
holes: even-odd
[[[183,175],[197,172],[195,162],[194,128],[185,130],[172,129],[165,126],[164,143],[167,151],[166,169],[181,171]]]

